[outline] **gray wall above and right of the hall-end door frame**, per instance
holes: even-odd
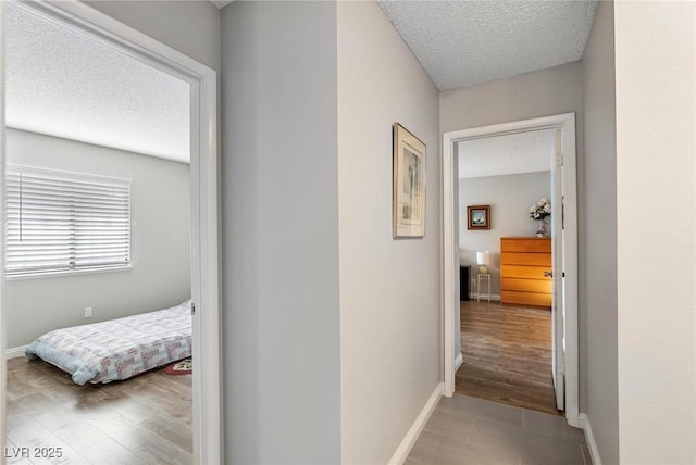
[[[580,409],[586,404],[584,260],[583,67],[581,62],[448,90],[439,97],[439,127],[446,133],[560,113],[575,113],[577,144]],[[456,322],[458,323],[458,322]]]

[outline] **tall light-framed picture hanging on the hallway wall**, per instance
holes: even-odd
[[[393,130],[393,236],[425,236],[425,143],[399,123]]]

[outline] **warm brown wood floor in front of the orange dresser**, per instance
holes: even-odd
[[[463,364],[456,390],[550,414],[556,410],[551,375],[551,312],[461,302]]]

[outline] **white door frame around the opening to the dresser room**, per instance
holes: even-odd
[[[566,418],[580,427],[579,418],[579,366],[577,366],[577,180],[575,156],[575,114],[523,120],[443,134],[443,361],[445,395],[455,393],[455,338],[459,328],[455,326],[455,311],[459,307],[457,276],[459,274],[459,247],[455,244],[457,201],[455,199],[455,143],[464,139],[501,136],[537,129],[561,129],[564,155],[566,191]]]

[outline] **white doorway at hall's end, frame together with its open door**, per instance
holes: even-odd
[[[444,354],[445,395],[455,392],[457,359],[461,355],[457,347],[459,337],[459,213],[455,194],[457,143],[463,140],[511,135],[539,129],[557,129],[557,163],[554,176],[560,180],[555,185],[557,204],[561,214],[555,215],[554,228],[560,228],[554,240],[554,378],[557,398],[564,401],[566,418],[571,426],[580,426],[577,404],[577,214],[575,173],[575,115],[567,113],[534,120],[445,133],[443,136],[443,264],[444,264]],[[552,200],[554,201],[554,200]],[[558,211],[558,209],[557,209]],[[562,219],[562,225],[561,225]],[[563,247],[564,244],[564,247]],[[557,311],[558,310],[558,311]],[[461,360],[461,359],[460,359]]]

